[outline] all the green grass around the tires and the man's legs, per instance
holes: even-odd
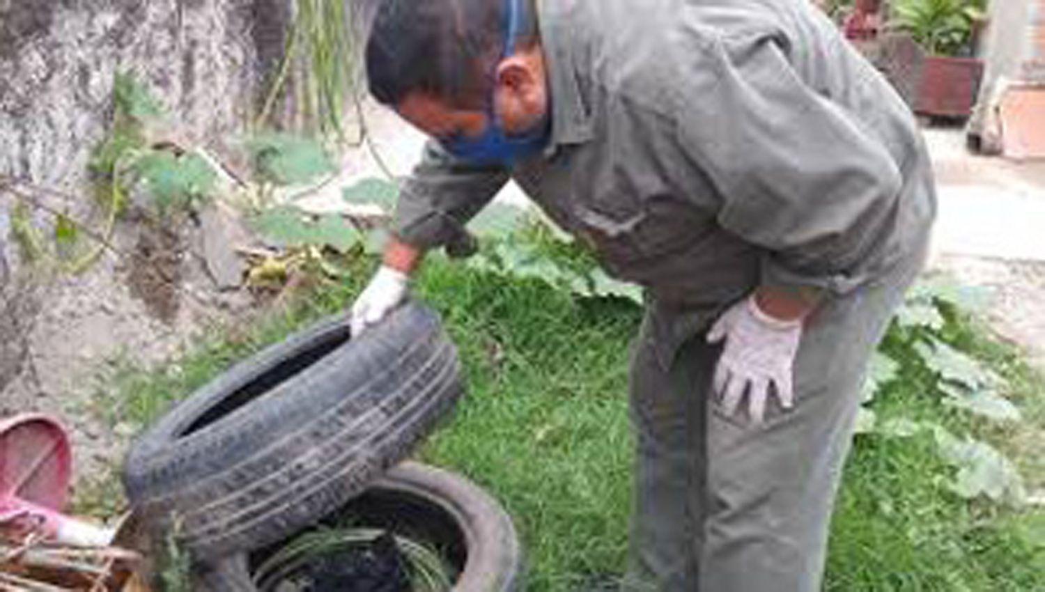
[[[165,369],[127,370],[99,399],[101,407],[114,420],[147,423],[262,344],[345,309],[357,288],[322,290],[252,330],[215,335]],[[503,501],[528,553],[528,590],[572,591],[621,574],[631,486],[627,355],[638,311],[625,302],[579,302],[538,282],[511,282],[441,259],[429,262],[418,292],[442,313],[469,387],[422,458],[460,471]],[[1030,446],[1045,431],[1045,381],[974,326],[962,322],[955,330],[1013,381],[1025,425],[982,427],[925,397],[916,373],[880,394],[876,411],[936,421],[957,433],[978,430],[1015,454],[1028,482],[1040,486],[1034,469],[1041,459]],[[929,436],[859,436],[836,507],[826,589],[1045,590],[1045,514],[969,503],[950,492],[950,475]]]

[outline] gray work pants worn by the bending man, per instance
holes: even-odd
[[[762,426],[726,417],[704,334],[670,369],[643,331],[631,369],[637,451],[626,588],[815,592],[867,360],[923,256],[821,304],[795,361],[795,406],[772,398]]]

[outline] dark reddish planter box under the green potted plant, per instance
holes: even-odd
[[[968,117],[976,104],[982,77],[980,60],[926,56],[914,111],[922,115]]]

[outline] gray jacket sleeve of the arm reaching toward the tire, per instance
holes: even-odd
[[[420,248],[462,244],[464,226],[508,182],[504,167],[471,165],[455,159],[435,141],[403,183],[392,232]]]

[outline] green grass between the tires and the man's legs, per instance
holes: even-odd
[[[568,590],[624,565],[631,437],[627,350],[637,311],[578,304],[537,282],[434,266],[423,293],[460,345],[470,397],[424,457],[504,500],[533,590]]]

